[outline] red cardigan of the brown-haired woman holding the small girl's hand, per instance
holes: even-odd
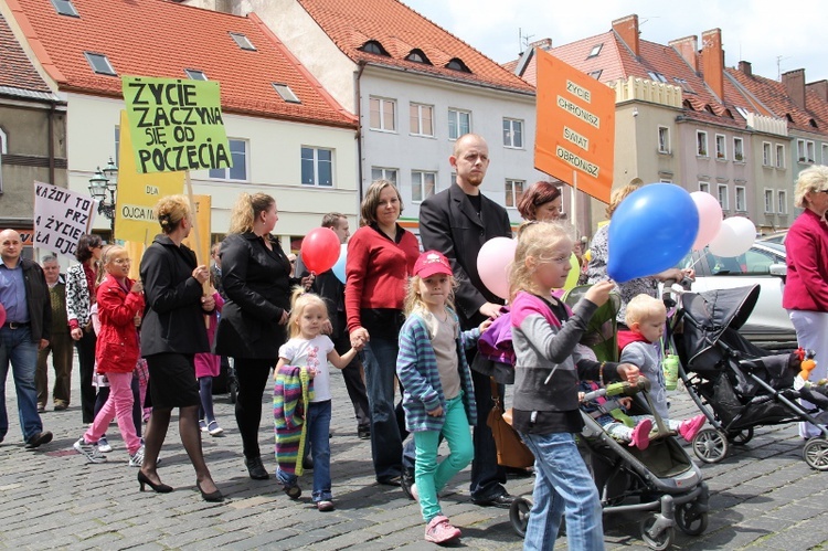
[[[354,232],[348,242],[346,258],[346,312],[349,331],[362,326],[362,308],[403,309],[405,285],[417,256],[417,239],[406,230],[403,230],[400,243],[394,243],[382,232],[368,225]]]

